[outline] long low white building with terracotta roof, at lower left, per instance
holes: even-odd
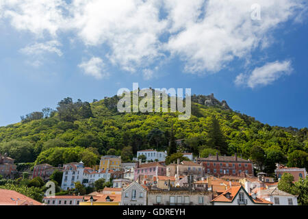
[[[79,205],[84,196],[46,196],[43,198],[45,205]]]

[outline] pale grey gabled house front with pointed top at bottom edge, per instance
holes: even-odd
[[[136,181],[123,189],[120,205],[146,205],[146,188]]]

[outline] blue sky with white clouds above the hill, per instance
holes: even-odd
[[[305,0],[0,0],[0,125],[119,88],[191,88],[308,125]]]

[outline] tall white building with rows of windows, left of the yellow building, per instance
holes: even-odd
[[[75,182],[82,183],[84,175],[84,163],[70,163],[63,166],[63,177],[61,188],[68,190],[75,188]]]

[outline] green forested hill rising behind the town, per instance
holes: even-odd
[[[170,139],[185,139],[178,151],[207,156],[238,153],[272,172],[274,162],[307,167],[307,128],[264,125],[233,111],[214,95],[193,95],[192,116],[178,113],[120,114],[118,96],[92,103],[66,98],[56,110],[21,116],[21,123],[0,127],[0,153],[18,162],[97,164],[100,155],[129,161],[140,149],[167,150]],[[173,135],[175,138],[173,138]]]

